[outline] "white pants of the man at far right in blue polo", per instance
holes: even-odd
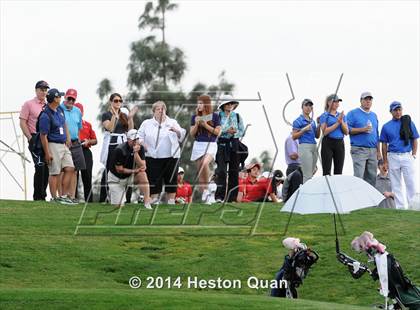
[[[391,189],[395,194],[397,209],[408,209],[408,205],[416,195],[416,171],[414,170],[414,157],[410,153],[388,153],[389,178]],[[401,174],[404,178],[406,197],[405,201]]]

